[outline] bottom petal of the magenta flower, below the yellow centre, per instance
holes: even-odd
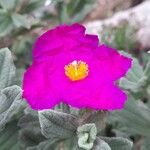
[[[65,103],[77,108],[95,110],[122,109],[126,100],[126,94],[117,86],[102,82],[95,84],[94,81],[79,88],[72,85],[64,94]]]

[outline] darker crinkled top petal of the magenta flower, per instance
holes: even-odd
[[[59,37],[58,37],[59,36]],[[33,46],[34,60],[43,60],[61,51],[75,49],[76,46],[86,45],[97,47],[98,37],[85,34],[85,27],[79,24],[61,25],[41,35]]]

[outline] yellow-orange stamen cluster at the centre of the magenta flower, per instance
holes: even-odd
[[[82,80],[88,76],[88,65],[84,61],[74,60],[65,65],[65,75],[72,81]]]

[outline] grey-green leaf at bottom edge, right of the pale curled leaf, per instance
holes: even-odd
[[[110,146],[111,150],[131,150],[133,143],[122,137],[100,137]]]

